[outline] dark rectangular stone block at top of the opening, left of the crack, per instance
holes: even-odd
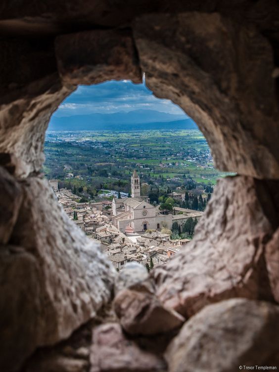
[[[96,84],[110,79],[141,82],[131,32],[94,30],[59,36],[56,58],[64,84]]]

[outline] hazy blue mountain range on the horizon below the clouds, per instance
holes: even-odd
[[[52,116],[48,131],[196,129],[196,124],[185,115],[168,114],[155,110],[135,110],[112,114]]]

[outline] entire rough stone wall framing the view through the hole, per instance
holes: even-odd
[[[1,2],[1,371],[178,372],[186,371],[185,356],[191,371],[230,371],[214,338],[219,320],[233,363],[245,355],[254,365],[257,350],[262,363],[279,363],[279,6],[272,0],[132,5]],[[144,273],[150,296],[125,284],[120,321],[114,314],[113,323],[95,328],[93,320],[108,322],[96,313],[111,306],[114,287],[121,294],[121,280],[114,286],[111,265],[40,177],[44,136],[52,112],[77,84],[137,83],[142,72],[155,95],[196,121],[216,166],[239,176],[219,182],[185,251],[151,278]],[[141,309],[142,296],[148,306]],[[157,324],[150,332],[158,308],[164,326],[172,319],[179,328],[181,315],[189,318],[164,356],[179,329],[169,335],[173,326]],[[90,336],[80,328],[86,322]],[[82,352],[69,338],[75,330]],[[27,363],[44,346],[51,347]]]

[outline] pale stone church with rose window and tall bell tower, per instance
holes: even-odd
[[[140,195],[139,175],[134,171],[131,177],[132,197],[113,198],[112,223],[122,233],[139,233],[148,229],[159,230],[172,227],[172,216],[161,214],[149,203],[147,196]]]

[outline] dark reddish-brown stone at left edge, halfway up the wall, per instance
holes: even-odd
[[[19,184],[0,167],[0,244],[9,241],[22,201]]]

